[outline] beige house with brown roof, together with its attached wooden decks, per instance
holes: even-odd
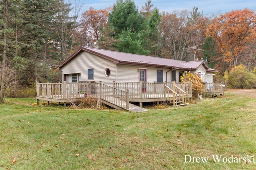
[[[81,47],[61,63],[62,83],[37,83],[36,99],[67,103],[97,99],[116,109],[146,111],[145,102],[186,105],[192,97],[192,82],[180,82],[185,71],[196,72],[212,82],[217,70],[204,61],[178,61]],[[221,83],[206,83],[205,93],[222,92]],[[135,103],[139,103],[136,106]]]

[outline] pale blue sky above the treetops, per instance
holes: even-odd
[[[116,0],[79,0],[83,4],[81,12],[88,10],[90,7],[94,9],[104,9],[113,6]],[[192,10],[193,6],[204,11],[204,14],[212,14],[216,12],[230,12],[231,10],[249,8],[256,10],[256,0],[151,0],[154,6],[160,12],[171,12],[172,10]],[[146,0],[134,0],[136,6],[141,8]]]

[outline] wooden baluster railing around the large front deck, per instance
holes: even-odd
[[[168,87],[168,88],[167,88]],[[37,96],[54,99],[73,99],[94,97],[109,102],[118,99],[157,99],[172,98],[192,94],[191,83],[157,83],[157,82],[113,82],[113,86],[99,83],[37,83]],[[175,100],[174,100],[175,101]],[[184,101],[184,100],[183,100]],[[117,104],[117,103],[116,103]],[[129,106],[127,106],[129,107]]]

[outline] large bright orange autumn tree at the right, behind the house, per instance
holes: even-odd
[[[236,66],[256,39],[256,14],[245,8],[220,15],[208,25],[207,36],[217,40],[224,61]]]

